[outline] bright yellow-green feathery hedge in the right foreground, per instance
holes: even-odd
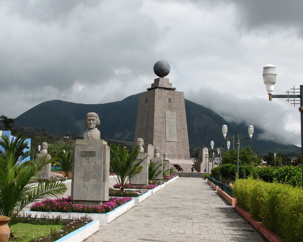
[[[303,241],[303,191],[298,187],[237,179],[234,194],[240,207],[285,242]]]

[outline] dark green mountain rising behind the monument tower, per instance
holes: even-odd
[[[29,109],[15,118],[14,126],[44,128],[45,131],[67,135],[82,136],[85,126],[85,114],[96,112],[100,118],[101,137],[111,140],[134,140],[139,94],[129,96],[122,101],[105,104],[78,104],[61,100],[46,101]],[[210,141],[218,146],[226,147],[221,127],[228,125],[228,137],[233,134],[243,134],[248,137],[247,124],[234,124],[225,121],[224,117],[208,108],[194,102],[185,100],[186,119],[188,127],[188,140],[191,148],[210,147]],[[254,124],[249,124],[254,125]],[[295,145],[282,145],[271,141],[258,139],[263,133],[261,128],[255,126],[252,141],[241,140],[240,148],[251,145],[258,154],[268,152],[288,152],[297,155],[301,148]],[[234,144],[235,145],[235,144]],[[233,141],[231,140],[231,148]]]

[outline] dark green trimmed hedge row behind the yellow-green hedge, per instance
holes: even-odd
[[[222,164],[220,167],[211,169],[211,173],[216,180],[229,183],[235,181],[237,166],[235,164]],[[266,182],[278,182],[288,184],[293,187],[302,186],[302,168],[301,166],[285,167],[253,167],[239,166],[239,178],[246,179],[253,177]]]

